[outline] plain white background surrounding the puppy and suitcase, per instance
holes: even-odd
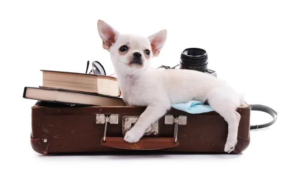
[[[264,179],[291,180],[292,5],[289,0],[0,1],[0,179]],[[168,36],[153,66],[174,66],[185,48],[209,54],[209,69],[248,104],[274,108],[268,129],[251,132],[240,155],[43,156],[30,145],[25,86],[41,86],[39,70],[85,72],[98,60],[113,72],[97,20],[121,33]],[[252,112],[251,124],[271,120]],[[288,165],[284,163],[287,162]]]

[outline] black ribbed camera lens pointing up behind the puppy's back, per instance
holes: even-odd
[[[208,70],[208,54],[200,48],[188,48],[181,54],[180,69],[206,72]]]

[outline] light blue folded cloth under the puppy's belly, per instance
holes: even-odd
[[[171,105],[172,108],[183,110],[190,114],[200,114],[204,112],[214,111],[209,105],[204,105],[200,101],[189,101],[187,103],[180,103]]]

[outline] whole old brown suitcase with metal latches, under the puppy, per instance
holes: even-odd
[[[137,143],[123,136],[146,107],[72,106],[38,101],[32,107],[31,145],[41,154],[97,152],[225,153],[227,123],[215,111],[189,114],[172,108],[149,127]],[[238,107],[241,115],[237,145],[250,143],[251,106]],[[107,123],[108,122],[108,123]]]

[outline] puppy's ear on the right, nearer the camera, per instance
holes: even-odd
[[[161,31],[159,31],[151,36],[148,36],[148,39],[149,39],[150,44],[151,44],[152,53],[154,56],[159,55],[160,50],[164,46],[166,36],[167,36],[167,31],[165,29],[161,30]]]

